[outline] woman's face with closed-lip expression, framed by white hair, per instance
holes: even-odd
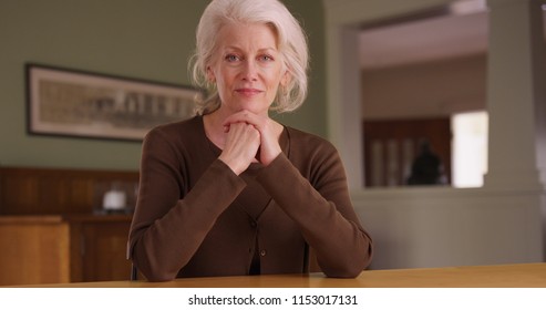
[[[248,110],[267,115],[288,73],[277,50],[276,33],[262,23],[229,23],[218,33],[208,79],[216,82],[220,110],[228,114]]]

